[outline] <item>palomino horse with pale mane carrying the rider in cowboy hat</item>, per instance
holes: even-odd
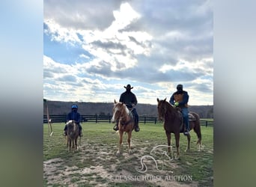
[[[131,112],[127,108],[127,106],[123,102],[114,101],[113,107],[113,117],[112,122],[118,121],[118,129],[119,129],[119,147],[117,154],[120,154],[121,144],[123,142],[124,132],[128,133],[128,153],[132,153],[131,149],[131,138],[132,138],[132,130],[134,126],[134,119],[132,117]]]

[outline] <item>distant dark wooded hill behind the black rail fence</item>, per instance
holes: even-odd
[[[70,112],[72,104],[79,106],[79,113],[83,115],[112,115],[113,103],[111,102],[63,102],[47,101],[49,115],[66,115]],[[138,104],[136,105],[138,116],[157,117],[156,105]],[[189,111],[195,111],[201,118],[213,118],[213,105],[192,105]],[[43,105],[43,114],[46,115],[46,105]]]

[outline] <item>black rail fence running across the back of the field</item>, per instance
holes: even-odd
[[[52,123],[66,123],[66,115],[51,115],[50,116]],[[81,123],[85,122],[94,122],[94,123],[100,123],[100,122],[108,122],[112,123],[112,116],[101,116],[101,115],[81,115]],[[138,117],[139,123],[159,123],[162,124],[158,120],[158,117],[148,117],[148,116],[141,116]],[[47,123],[47,117],[46,115],[43,116],[43,123]],[[201,126],[213,126],[213,120],[200,120]]]

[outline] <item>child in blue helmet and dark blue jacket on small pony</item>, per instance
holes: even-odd
[[[80,125],[81,116],[78,110],[78,105],[72,105],[70,113],[67,114],[66,122],[69,120],[75,120],[75,123],[79,125],[79,136],[82,136],[82,126]],[[64,128],[64,136],[67,135],[67,125]]]

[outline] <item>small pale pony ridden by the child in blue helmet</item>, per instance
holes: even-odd
[[[74,120],[69,120],[67,122],[67,147],[69,147],[69,151],[72,147],[77,150],[77,138],[79,136],[79,126],[75,123]]]

